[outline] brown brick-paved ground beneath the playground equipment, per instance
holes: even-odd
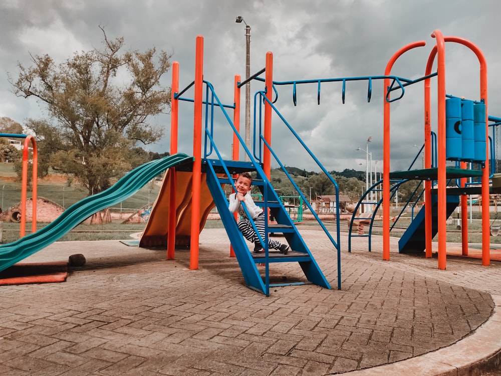
[[[189,251],[117,241],[55,243],[26,261],[83,253],[64,283],[0,287],[0,374],[319,375],[373,367],[448,346],[492,313],[501,263],[399,255],[381,260],[381,239],[342,238],[336,254],[301,230],[332,290],[245,287],[221,229],[203,230],[199,270]],[[393,242],[393,241],[392,241]],[[264,268],[263,268],[264,269]],[[304,280],[296,264],[272,265],[275,281]]]

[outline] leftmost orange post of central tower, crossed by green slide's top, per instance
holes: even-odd
[[[177,153],[177,128],[179,119],[179,100],[174,96],[179,92],[179,63],[172,63],[172,88],[170,100],[170,155]],[[167,177],[167,176],[166,176]],[[176,169],[170,168],[169,214],[167,228],[167,260],[173,260],[176,248]]]

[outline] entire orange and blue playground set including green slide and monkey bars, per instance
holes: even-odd
[[[199,234],[210,210],[216,206],[221,216],[221,220],[226,229],[232,249],[230,256],[235,256],[245,283],[249,288],[260,291],[266,295],[270,294],[270,287],[283,286],[291,284],[314,283],[319,286],[330,288],[330,284],[323,275],[320,267],[316,263],[307,244],[301,237],[294,221],[291,219],[282,199],[278,196],[270,182],[271,159],[280,165],[296,191],[300,194],[301,200],[310,209],[318,221],[325,235],[329,238],[333,245],[333,249],[337,253],[337,279],[338,289],[341,288],[341,257],[340,257],[340,225],[336,223],[336,234],[333,237],[326,229],[322,221],[318,218],[308,200],[303,196],[299,187],[296,185],[291,175],[287,172],[284,164],[280,161],[276,151],[272,148],[271,142],[271,125],[272,113],[280,118],[280,123],[291,132],[306,153],[317,163],[318,167],[330,178],[335,187],[336,197],[336,216],[340,218],[339,205],[339,187],[336,181],[332,178],[326,168],[317,159],[313,152],[308,148],[304,141],[295,132],[293,127],[282,116],[275,102],[278,100],[277,85],[289,85],[293,88],[293,102],[297,104],[296,88],[300,84],[318,84],[317,100],[320,104],[320,88],[321,85],[328,82],[342,82],[342,101],[345,102],[345,86],[347,81],[365,80],[368,82],[367,99],[370,101],[372,95],[372,81],[383,80],[384,82],[384,158],[383,158],[383,179],[382,179],[382,200],[377,203],[374,215],[380,205],[383,207],[383,259],[389,260],[389,230],[390,230],[390,213],[389,204],[391,195],[395,194],[398,186],[409,179],[426,179],[424,191],[424,206],[416,216],[415,222],[424,223],[424,239],[415,237],[418,233],[416,228],[409,227],[408,239],[413,239],[415,244],[419,243],[419,247],[424,244],[426,256],[431,257],[431,239],[434,236],[434,231],[438,233],[438,267],[445,269],[445,221],[448,217],[449,202],[457,200],[461,196],[461,207],[466,205],[466,194],[476,192],[482,197],[489,195],[489,171],[488,171],[488,150],[486,140],[488,139],[488,129],[486,127],[487,119],[487,91],[486,91],[486,64],[482,53],[469,41],[457,37],[443,37],[436,30],[432,37],[437,41],[433,47],[425,76],[408,80],[397,76],[390,75],[391,69],[395,61],[405,52],[417,47],[423,47],[425,42],[415,42],[409,44],[389,60],[385,74],[383,76],[367,76],[367,77],[349,77],[349,78],[330,78],[330,79],[315,79],[315,80],[297,80],[277,82],[273,81],[273,54],[266,54],[265,68],[249,77],[248,80],[240,82],[240,76],[234,78],[234,103],[232,105],[222,104],[217,97],[212,84],[203,80],[203,38],[196,38],[196,56],[195,56],[195,75],[194,81],[183,90],[179,90],[179,63],[174,62],[172,65],[172,103],[171,103],[171,140],[169,157],[145,163],[142,166],[129,172],[126,176],[119,180],[109,190],[100,194],[87,197],[79,203],[67,209],[62,216],[51,223],[44,229],[33,232],[25,236],[17,242],[8,245],[0,246],[0,270],[3,270],[17,261],[33,254],[34,252],[44,248],[48,244],[56,241],[65,233],[70,231],[78,223],[85,218],[111,205],[115,205],[124,199],[130,197],[144,186],[149,180],[156,176],[159,172],[167,170],[160,194],[155,201],[148,224],[141,237],[140,245],[142,246],[167,246],[167,259],[174,258],[174,250],[176,245],[189,246],[190,248],[190,269],[198,268],[198,252],[199,252]],[[463,111],[461,105],[463,101],[457,101],[456,97],[448,96],[453,99],[452,105],[446,106],[445,94],[445,63],[444,63],[444,45],[445,42],[460,43],[472,50],[480,62],[480,99],[477,101],[464,102],[465,107],[473,106],[473,116],[470,109]],[[431,67],[435,60],[438,59],[438,69],[436,73],[431,72]],[[265,78],[259,77],[265,73]],[[430,121],[430,80],[437,77],[438,81],[438,131],[436,133],[436,162],[432,164],[433,147],[432,138],[434,133],[431,132]],[[249,150],[245,145],[244,140],[239,134],[239,118],[240,118],[240,88],[249,80],[257,80],[264,82],[264,87],[255,94],[255,118],[254,118],[254,143],[253,150]],[[405,87],[424,81],[425,85],[425,126],[424,126],[424,168],[421,170],[395,171],[390,173],[390,104],[403,97]],[[205,86],[205,97],[203,96],[203,87]],[[182,95],[191,87],[194,88],[193,99],[184,98]],[[400,91],[400,95],[396,98],[391,98],[394,91]],[[275,96],[275,98],[274,98]],[[177,137],[178,137],[178,114],[179,101],[188,101],[193,103],[193,156],[189,157],[186,154],[178,153]],[[459,104],[458,104],[459,103]],[[459,110],[458,110],[459,108]],[[476,108],[476,110],[475,110]],[[204,111],[203,111],[204,109]],[[233,110],[233,116],[230,117],[226,109]],[[233,142],[231,159],[223,158],[221,153],[222,148],[217,145],[216,131],[214,127],[215,110],[220,111],[222,117],[227,123],[224,129],[227,133],[231,129],[233,133]],[[447,112],[447,115],[446,115]],[[205,114],[204,127],[202,128],[202,114]],[[447,119],[449,126],[447,127]],[[457,122],[467,123],[463,139],[457,136]],[[472,123],[471,123],[472,122]],[[473,125],[472,125],[473,124]],[[447,138],[446,130],[449,129],[450,137]],[[471,132],[473,129],[473,132]],[[485,137],[483,133],[485,132]],[[454,134],[455,133],[455,134]],[[202,149],[203,137],[203,149]],[[447,145],[449,151],[446,152]],[[452,145],[452,146],[450,146]],[[459,145],[461,152],[458,151]],[[464,146],[463,146],[464,145]],[[473,146],[473,152],[470,148]],[[223,146],[224,147],[224,146]],[[249,161],[239,160],[239,150],[242,148],[248,156]],[[455,148],[455,150],[450,150]],[[463,152],[464,148],[464,152]],[[485,149],[485,150],[483,150]],[[26,147],[28,150],[28,147]],[[203,150],[203,155],[202,155]],[[477,153],[478,151],[478,153]],[[485,151],[485,152],[484,152]],[[492,154],[492,152],[491,152]],[[34,153],[34,158],[36,153]],[[458,166],[451,168],[446,166],[446,160],[455,160]],[[466,168],[467,162],[476,162],[477,169]],[[261,203],[263,210],[268,215],[276,220],[276,224],[265,223],[265,237],[260,236],[265,252],[263,254],[255,254],[249,252],[243,236],[238,230],[235,218],[228,210],[226,194],[223,190],[225,184],[230,184],[234,190],[234,178],[238,172],[255,171],[257,178],[254,180],[254,185],[257,185],[263,195]],[[36,175],[34,175],[36,176]],[[467,177],[481,177],[480,186],[467,186]],[[459,191],[454,191],[447,188],[447,178],[457,178],[460,181]],[[36,180],[36,179],[34,179]],[[432,181],[437,181],[438,185],[432,192]],[[378,189],[381,181],[376,182],[371,189]],[[390,186],[390,183],[393,185]],[[378,188],[376,188],[378,187]],[[361,198],[361,202],[370,192]],[[450,196],[450,198],[448,198]],[[455,197],[455,199],[453,199]],[[26,200],[25,200],[26,202]],[[457,200],[457,202],[459,202]],[[360,203],[359,203],[360,204]],[[455,205],[457,203],[453,203]],[[302,205],[301,205],[302,207]],[[355,213],[357,210],[354,211]],[[433,220],[433,212],[436,212],[436,221]],[[466,210],[461,211],[465,215]],[[421,214],[422,213],[422,214]],[[247,213],[248,214],[248,213]],[[250,217],[250,216],[249,216]],[[167,219],[167,221],[166,221]],[[365,219],[367,220],[367,219]],[[374,217],[370,219],[370,228]],[[438,226],[432,227],[432,221],[438,223]],[[167,222],[167,223],[166,223]],[[463,246],[467,252],[467,221],[463,218],[462,234]],[[489,208],[488,200],[482,200],[482,264],[488,265],[489,261]],[[255,228],[255,230],[257,230]],[[268,249],[268,236],[270,233],[283,234],[287,242],[291,246],[291,251],[287,255],[276,254]],[[369,231],[370,233],[370,231]],[[369,235],[370,236],[370,235]],[[351,238],[350,238],[351,241]],[[406,244],[411,244],[409,241]],[[370,248],[370,238],[369,238]],[[404,249],[401,247],[400,250]],[[273,277],[270,277],[270,264],[273,263],[297,263],[301,267],[308,282],[297,281],[293,283],[271,283]],[[258,264],[264,264],[264,276],[258,269]]]

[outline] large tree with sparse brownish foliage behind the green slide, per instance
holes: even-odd
[[[33,66],[18,64],[19,77],[10,78],[16,95],[35,97],[51,115],[29,120],[45,161],[41,173],[51,166],[74,174],[89,194],[147,160],[135,148],[162,136],[148,119],[170,106],[170,89],[160,78],[171,56],[155,48],[123,51],[122,37],[109,40],[101,30],[102,50],[75,53],[59,65],[49,55],[32,56]]]

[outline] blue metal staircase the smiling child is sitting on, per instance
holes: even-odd
[[[247,287],[270,295],[270,287],[302,285],[307,283],[316,284],[330,289],[325,276],[313,258],[310,250],[299,234],[293,220],[273,189],[270,181],[259,164],[243,161],[223,161],[219,159],[205,159],[207,185],[214,199],[228,238],[242,271]],[[228,200],[221,184],[232,184],[231,174],[242,171],[256,171],[258,176],[253,180],[253,185],[259,186],[263,194],[263,202],[256,202],[265,211],[269,211],[277,224],[267,224],[269,234],[283,234],[291,249],[287,255],[276,250],[268,249],[268,239],[263,239],[265,252],[254,253],[249,248],[240,233],[233,214],[228,210]],[[289,283],[270,283],[269,266],[272,263],[297,262],[301,266],[306,281]],[[264,264],[265,275],[262,276],[257,264]]]

